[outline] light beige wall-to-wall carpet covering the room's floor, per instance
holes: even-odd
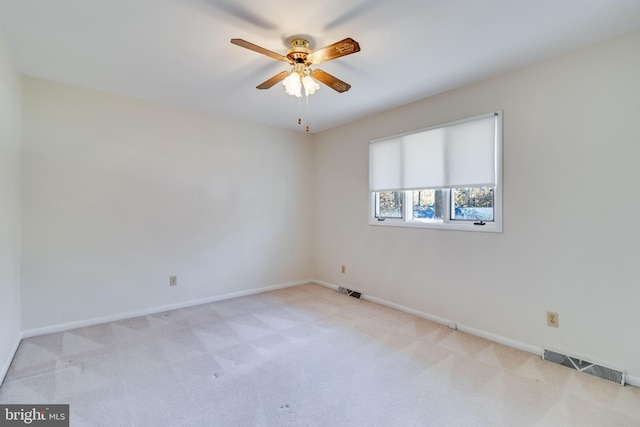
[[[640,389],[317,285],[23,340],[72,426],[639,426]]]

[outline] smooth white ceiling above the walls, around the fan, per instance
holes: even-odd
[[[24,74],[300,130],[282,85],[255,89],[287,65],[229,40],[352,37],[318,67],[352,88],[310,97],[312,132],[637,29],[640,0],[0,0]]]

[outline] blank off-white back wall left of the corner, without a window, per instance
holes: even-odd
[[[24,330],[309,279],[308,135],[23,88]]]

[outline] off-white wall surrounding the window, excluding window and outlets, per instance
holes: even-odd
[[[634,33],[322,133],[315,277],[640,376],[638,70]],[[367,225],[369,140],[495,109],[503,233]]]

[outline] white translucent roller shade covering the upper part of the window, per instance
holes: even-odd
[[[371,141],[371,191],[496,185],[499,113]]]

